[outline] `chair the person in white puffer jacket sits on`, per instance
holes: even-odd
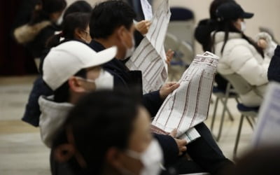
[[[230,75],[223,75],[235,88],[235,91],[237,94],[246,94],[247,92],[250,92],[251,90],[255,90],[255,86],[250,85],[244,78],[237,75],[236,73],[230,74]],[[242,130],[243,120],[246,118],[249,125],[251,125],[253,129],[254,125],[254,118],[258,115],[258,109],[259,106],[255,107],[249,107],[245,106],[244,104],[237,104],[237,109],[241,113],[241,118],[239,122],[239,127],[237,130],[237,138],[235,140],[235,148],[233,149],[233,158],[237,158],[237,148],[239,144],[240,134]]]

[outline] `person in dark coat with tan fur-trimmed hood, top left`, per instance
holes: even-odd
[[[65,7],[65,0],[41,0],[29,23],[14,30],[15,39],[25,45],[34,58],[41,57],[48,38],[59,30],[55,23]]]

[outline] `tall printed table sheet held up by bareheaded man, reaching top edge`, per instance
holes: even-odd
[[[163,43],[171,13],[169,1],[162,1],[155,12],[148,34],[127,61],[130,70],[141,70],[144,94],[159,90],[167,80],[167,63]]]

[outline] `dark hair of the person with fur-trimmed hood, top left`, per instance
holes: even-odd
[[[41,0],[41,3],[34,10],[29,25],[34,25],[43,20],[50,20],[50,14],[55,12],[62,12],[66,7],[65,0]]]

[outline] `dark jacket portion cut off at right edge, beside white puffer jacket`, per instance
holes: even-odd
[[[268,67],[267,78],[269,81],[280,82],[280,45],[277,45],[274,56]]]

